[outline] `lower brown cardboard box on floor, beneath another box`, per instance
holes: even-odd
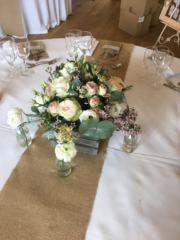
[[[136,37],[148,32],[152,14],[138,16],[134,13],[120,9],[119,28]]]

